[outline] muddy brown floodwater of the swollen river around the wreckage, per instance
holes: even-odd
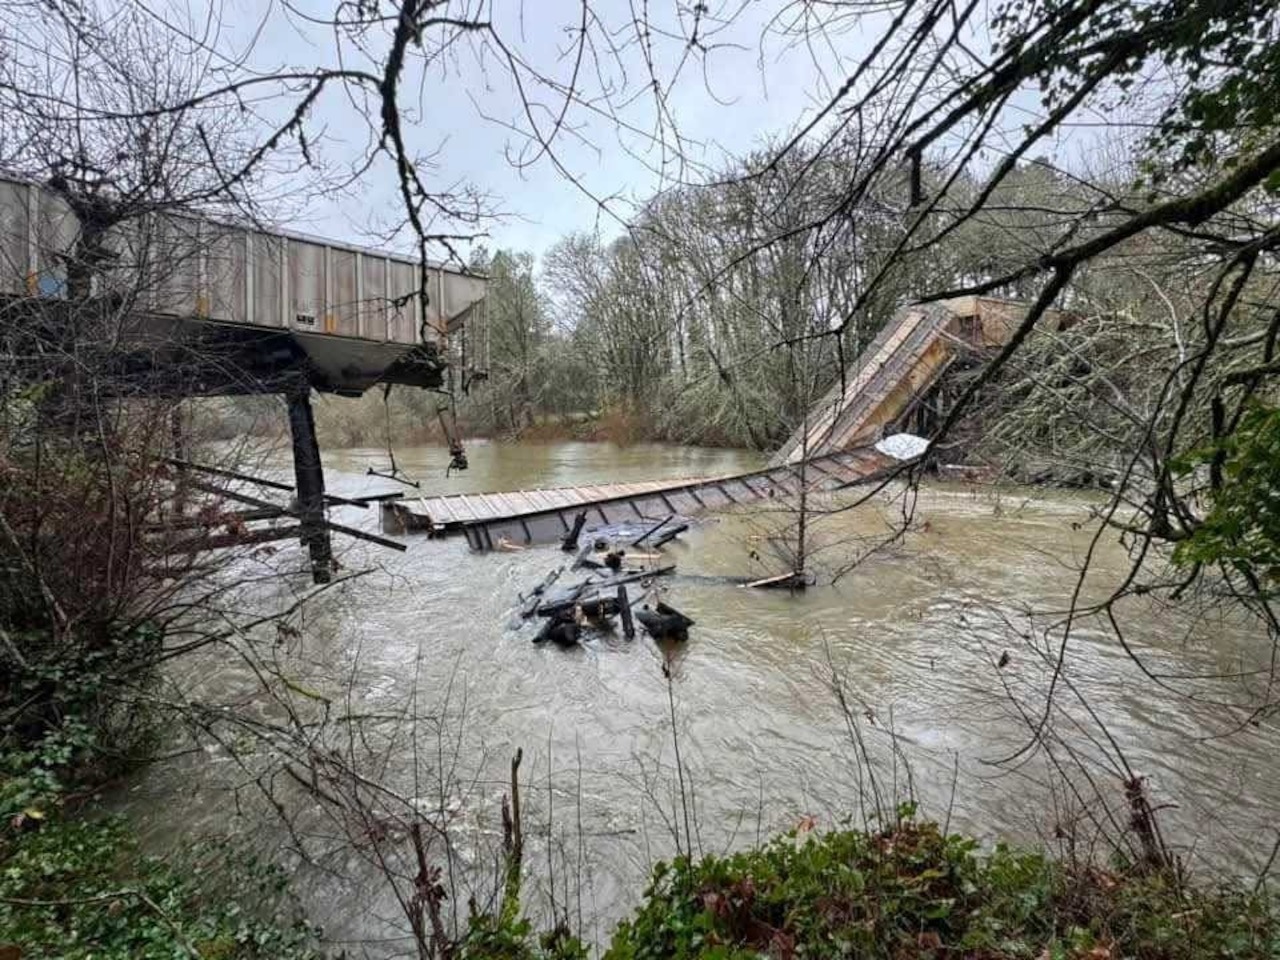
[[[397,462],[433,493],[759,465],[744,452],[652,444],[472,444],[468,453],[471,468],[451,477],[440,448],[399,449]],[[325,462],[335,493],[394,486],[366,474],[387,467],[385,452],[337,451]],[[835,585],[796,595],[740,585],[778,572],[768,538],[794,522],[786,504],[705,517],[669,548],[678,568],[663,581],[662,596],[696,621],[689,641],[673,650],[643,634],[630,643],[599,636],[567,650],[531,644],[535,626],[513,617],[517,596],[564,562],[554,547],[481,556],[462,539],[410,538],[403,554],[344,545],[347,570],[374,572],[305,611],[300,637],[280,657],[296,671],[291,676],[346,709],[413,709],[430,718],[370,746],[366,769],[430,809],[445,806],[465,827],[463,863],[499,835],[511,755],[522,749],[531,896],[545,904],[549,833],[558,902],[571,877],[571,919],[580,910],[588,936],[600,940],[635,905],[653,861],[672,854],[673,829],[684,837],[672,704],[687,820],[700,851],[756,842],[801,817],[820,826],[861,822],[874,790],[884,803],[911,795],[925,814],[987,841],[1034,841],[1069,826],[1078,800],[1044,750],[1024,748],[1043,707],[1042,652],[1056,650],[1056,612],[1076,589],[1097,503],[1094,494],[929,484],[915,503],[913,532]],[[817,520],[809,535],[819,548],[819,576],[844,571],[883,540],[901,507],[900,492],[890,492]],[[342,522],[376,525],[372,511],[338,513]],[[279,562],[301,563],[301,552],[284,548],[273,558]],[[1103,538],[1082,598],[1100,596],[1126,563],[1123,545]],[[292,584],[303,588],[302,580]],[[1119,612],[1128,644],[1148,668],[1196,675],[1176,681],[1176,691],[1147,677],[1103,622],[1080,620],[1068,643],[1052,730],[1091,758],[1093,783],[1112,803],[1123,797],[1123,772],[1102,758],[1123,750],[1132,771],[1148,778],[1155,801],[1167,805],[1166,838],[1194,869],[1249,876],[1275,838],[1280,735],[1272,721],[1235,731],[1242,714],[1216,701],[1252,701],[1260,691],[1242,680],[1204,677],[1262,669],[1270,649],[1252,625],[1215,613],[1212,604],[1187,607],[1196,616],[1146,600]],[[833,694],[833,669],[877,774],[874,788]],[[186,664],[174,682],[206,700],[273,716],[229,657]],[[196,756],[159,764],[122,805],[157,847],[204,829],[282,838],[253,803],[253,785],[233,753],[206,745]],[[1053,755],[1066,758],[1062,748]],[[442,771],[449,773],[443,804],[430,799],[442,792]],[[1068,773],[1079,786],[1082,778]],[[347,943],[379,941],[381,947],[367,947],[371,954],[403,947],[394,899],[367,860],[343,852],[319,814],[301,829],[312,831],[323,850],[319,865],[298,867],[298,888],[328,933]],[[1076,833],[1087,842],[1084,828]]]

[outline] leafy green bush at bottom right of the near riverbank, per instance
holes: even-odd
[[[659,864],[608,960],[649,957],[1280,957],[1261,895],[1069,869],[936,824],[791,833],[760,850]]]

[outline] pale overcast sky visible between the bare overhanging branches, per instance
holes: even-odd
[[[635,8],[641,5],[636,0]],[[259,69],[338,63],[332,31],[307,23],[298,13],[310,10],[323,17],[332,12],[332,0],[298,0],[294,10],[278,1],[268,8],[261,0],[224,0],[220,6],[218,45],[228,51],[251,49],[250,61]],[[658,33],[678,29],[687,35],[691,14],[685,4],[650,0],[649,12],[657,27],[655,70],[663,83],[671,83],[668,105],[680,132],[690,141],[687,157],[695,164],[719,166],[728,156],[741,155],[794,128],[828,88],[818,65],[829,76],[842,77],[837,52],[846,63],[855,59],[864,52],[868,29],[874,27],[872,22],[847,29],[836,46],[815,51],[790,45],[776,29],[765,29],[767,18],[785,6],[781,0],[713,3],[700,28],[712,49],[687,58],[671,83],[686,46],[676,37]],[[588,56],[580,70],[581,93],[596,99],[608,87],[613,109],[626,124],[637,131],[655,129],[655,104],[645,88],[649,72],[640,46],[634,42],[632,5],[627,0],[603,0],[593,10],[602,23],[591,28],[596,55]],[[581,15],[577,3],[529,0],[521,5],[517,0],[495,0],[489,13],[504,42],[525,61],[568,82],[573,59],[564,51],[576,36]],[[678,28],[681,17],[684,27]],[[607,37],[622,47],[620,52],[603,49]],[[371,52],[384,54],[387,38],[374,37],[369,46]],[[355,65],[360,54],[346,46],[343,56]],[[603,83],[594,63],[602,64]],[[372,64],[366,59],[358,65]],[[529,123],[509,72],[492,50],[481,54],[475,46],[460,46],[447,63],[425,74],[416,64],[406,81],[404,106],[412,114],[408,137],[416,150],[435,151],[431,180],[442,187],[468,182],[493,197],[503,211],[504,218],[489,227],[490,247],[541,253],[572,230],[616,234],[614,218],[626,218],[631,204],[650,196],[664,179],[699,175],[694,166],[678,169],[673,164],[667,164],[663,173],[663,151],[646,136],[620,128],[591,106],[572,105],[567,118],[570,129],[556,138],[557,159],[591,195],[613,198],[609,215],[549,157],[543,156],[525,169],[509,161],[512,154],[527,147],[527,141],[507,124],[526,131]],[[536,100],[559,106],[556,95],[545,90],[536,92]],[[549,124],[548,115],[539,119]],[[360,109],[338,91],[326,97],[310,125],[324,129],[320,152],[330,163],[347,161],[365,148],[369,129]],[[671,159],[669,152],[667,157]],[[389,165],[381,165],[356,188],[308,204],[306,220],[292,225],[360,241],[369,228],[385,225],[399,211],[394,174]]]

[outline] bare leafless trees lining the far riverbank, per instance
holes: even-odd
[[[855,145],[846,155],[774,154],[654,196],[612,241],[575,233],[540,259],[477,251],[471,266],[490,282],[470,370],[453,383],[461,433],[772,449],[899,306],[1012,273],[1060,247],[1064,224],[1103,221],[1155,189],[1140,152],[1110,143],[1091,154],[1098,169],[1028,160],[986,197],[978,182],[945,180],[928,164],[913,183],[904,165],[840,216]],[[913,191],[934,198],[929,211]],[[833,209],[838,223],[815,229]],[[913,250],[905,238],[922,215],[936,221],[924,233],[942,237]],[[1076,271],[1056,297],[1075,324],[1037,332],[986,392],[982,422],[952,444],[1023,474],[1036,472],[1029,463],[1106,472],[1146,416],[1115,396],[1153,397],[1202,335],[1194,305],[1211,280],[1194,269],[1194,243],[1144,234]],[[991,294],[1033,300],[1037,283]],[[449,404],[443,393],[374,390],[323,402],[319,421],[330,444],[413,443],[440,438]],[[220,412],[224,429],[269,425],[264,410],[238,402],[234,415]],[[1100,431],[1114,442],[1100,445]]]

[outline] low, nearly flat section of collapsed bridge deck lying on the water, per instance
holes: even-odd
[[[805,480],[812,490],[837,490],[881,477],[895,463],[873,448],[832,453],[812,460]],[[490,550],[503,540],[520,545],[554,543],[582,511],[590,526],[658,521],[794,495],[799,486],[800,467],[788,463],[718,477],[424,497],[383,504],[383,530],[436,536],[461,532],[474,549]]]

